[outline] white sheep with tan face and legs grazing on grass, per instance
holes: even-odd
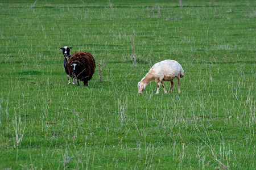
[[[156,94],[159,94],[159,87],[162,84],[164,92],[167,93],[166,88],[164,88],[163,80],[170,81],[171,87],[168,91],[169,93],[172,91],[172,87],[174,87],[174,78],[177,78],[177,84],[179,87],[180,93],[180,78],[183,78],[184,71],[181,65],[171,59],[166,59],[164,61],[160,61],[155,63],[154,66],[151,67],[150,71],[142,78],[141,82],[138,83],[138,94],[142,94],[147,84],[150,83],[152,80],[155,80],[158,83],[158,89],[156,90]]]

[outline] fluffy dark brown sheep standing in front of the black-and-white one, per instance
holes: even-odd
[[[67,67],[69,75],[76,78],[77,86],[79,86],[79,80],[84,82],[84,86],[88,86],[88,81],[92,79],[96,65],[92,54],[75,52],[69,59]]]

